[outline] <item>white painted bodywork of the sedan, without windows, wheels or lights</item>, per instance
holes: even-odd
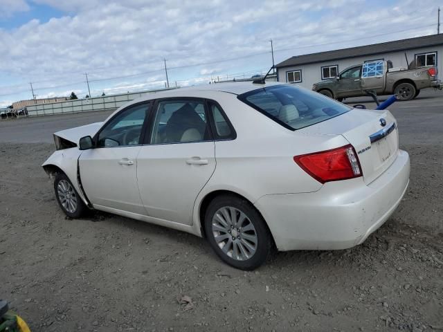
[[[213,99],[232,122],[235,140],[87,151],[71,148],[55,151],[44,165],[60,167],[80,192],[76,179],[80,157],[82,185],[94,208],[197,236],[201,236],[202,201],[212,192],[225,190],[255,205],[279,250],[341,249],[361,243],[401,200],[408,185],[408,154],[397,149],[377,169],[371,164],[375,157],[365,151],[359,155],[364,178],[324,185],[302,170],[293,156],[350,142],[358,151],[370,145],[368,136],[381,128],[377,127],[379,118],[395,119],[388,111],[353,110],[290,131],[237,100],[235,93],[260,87],[244,83],[177,89],[124,106],[154,98]],[[93,126],[80,128],[78,135],[71,129],[61,137],[78,143],[78,138],[98,131]],[[397,130],[390,135],[398,144]],[[207,159],[208,165],[186,164],[192,157]],[[133,160],[134,165],[118,164],[123,158]]]

